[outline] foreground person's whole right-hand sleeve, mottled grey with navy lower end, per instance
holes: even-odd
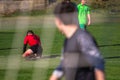
[[[99,68],[99,65],[104,63],[96,41],[91,35],[83,33],[78,37],[77,42],[79,50],[84,55],[88,63],[96,68]]]

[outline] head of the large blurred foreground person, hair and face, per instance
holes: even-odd
[[[58,3],[54,9],[57,28],[64,33],[63,27],[68,25],[78,26],[77,7],[72,2]]]

